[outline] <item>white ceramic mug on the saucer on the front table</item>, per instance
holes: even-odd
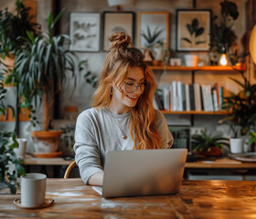
[[[21,205],[37,207],[45,203],[47,176],[42,173],[27,173],[21,176]]]

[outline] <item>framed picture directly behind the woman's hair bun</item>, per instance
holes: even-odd
[[[110,47],[109,37],[113,33],[124,32],[134,40],[133,12],[103,12],[103,50]]]

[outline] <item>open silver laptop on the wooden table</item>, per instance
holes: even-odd
[[[102,197],[178,193],[187,149],[109,151],[103,186],[92,186]]]

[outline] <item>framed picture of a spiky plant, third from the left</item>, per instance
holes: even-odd
[[[137,47],[161,43],[170,46],[169,12],[138,12]]]

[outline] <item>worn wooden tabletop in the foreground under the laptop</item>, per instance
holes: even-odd
[[[52,206],[20,209],[13,203],[16,197],[0,194],[1,218],[256,217],[256,184],[250,181],[184,181],[176,195],[105,199],[80,179],[48,179],[47,198],[54,199]]]

